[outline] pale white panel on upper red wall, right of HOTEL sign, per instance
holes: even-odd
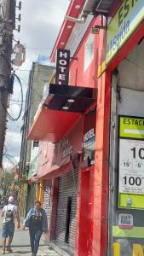
[[[89,38],[85,42],[85,49],[84,49],[84,71],[89,67],[91,61],[94,58],[94,42],[95,42],[95,35],[90,34]]]

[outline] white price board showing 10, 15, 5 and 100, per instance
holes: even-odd
[[[119,140],[119,193],[144,194],[144,142]]]

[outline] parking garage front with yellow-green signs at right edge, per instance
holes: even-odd
[[[98,74],[99,84],[106,79],[104,86],[112,88],[107,255],[142,256],[144,2],[116,4],[110,15],[105,71],[100,66]]]

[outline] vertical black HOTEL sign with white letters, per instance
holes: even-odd
[[[68,85],[70,50],[58,49],[56,60],[55,84]]]

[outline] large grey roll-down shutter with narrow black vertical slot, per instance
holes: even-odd
[[[55,240],[67,245],[72,251],[75,247],[76,224],[77,224],[77,196],[78,196],[78,168],[73,172],[59,177],[59,195],[57,206],[57,218],[55,229]],[[65,242],[66,236],[66,212],[67,201],[71,197],[71,218],[69,225],[69,239]]]

